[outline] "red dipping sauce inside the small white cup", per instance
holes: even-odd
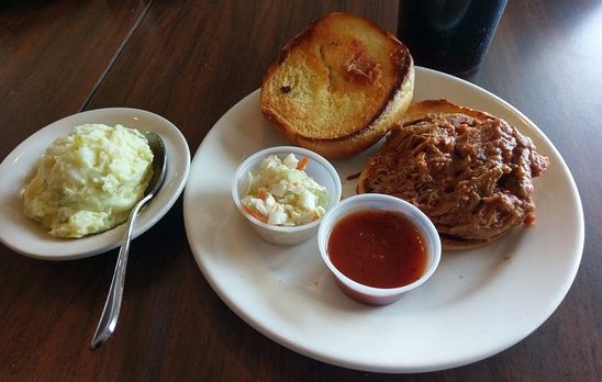
[[[419,231],[404,215],[360,210],[341,218],[327,243],[332,263],[367,286],[400,288],[420,279],[426,250]]]

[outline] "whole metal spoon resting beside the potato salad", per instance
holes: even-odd
[[[144,192],[144,198],[134,205],[130,217],[127,218],[127,225],[125,234],[121,243],[121,249],[119,251],[118,262],[115,265],[115,271],[113,273],[113,280],[111,281],[111,288],[109,289],[109,295],[102,310],[102,316],[98,323],[94,337],[90,344],[90,349],[96,349],[104,344],[109,337],[115,330],[118,324],[119,311],[121,308],[121,300],[123,297],[123,283],[125,280],[125,268],[127,266],[127,255],[130,252],[130,241],[132,239],[132,231],[136,216],[142,209],[159,190],[163,180],[165,178],[165,169],[167,157],[165,154],[165,145],[160,136],[155,133],[143,133],[148,141],[148,146],[153,151],[153,177],[148,182],[148,187]]]

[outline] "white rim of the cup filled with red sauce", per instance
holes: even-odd
[[[423,223],[423,224],[414,224],[414,226],[421,232],[423,239],[427,241],[427,247],[431,249],[431,252],[432,252],[432,256],[430,256],[430,258],[432,257],[432,261],[428,261],[426,270],[416,281],[406,285],[398,286],[398,288],[369,286],[350,279],[349,277],[341,272],[331,261],[328,257],[328,251],[327,251],[327,241],[330,236],[328,234],[334,227],[334,223],[336,223],[341,217],[347,215],[348,213],[368,210],[369,207],[361,206],[358,209],[354,209],[354,210],[350,210],[348,213],[343,213],[341,216],[336,218],[333,217],[333,215],[335,215],[337,211],[339,211],[341,209],[347,207],[349,204],[356,204],[356,203],[369,202],[369,201],[386,202],[386,203],[390,203],[391,205],[401,206],[402,207],[401,210],[409,211],[410,213],[412,213],[412,215],[419,216],[419,218]],[[379,210],[384,210],[384,209],[379,209]],[[331,221],[333,221],[332,224],[328,224]],[[437,269],[439,265],[441,256],[442,256],[442,246],[441,246],[441,238],[435,228],[435,225],[419,207],[416,207],[412,203],[404,201],[403,199],[388,195],[388,194],[380,194],[380,193],[363,193],[363,194],[353,195],[341,201],[331,210],[326,211],[326,213],[323,216],[323,222],[326,222],[326,224],[321,224],[317,232],[317,247],[320,249],[320,255],[322,257],[322,260],[324,261],[326,267],[330,269],[330,271],[335,276],[335,278],[338,281],[343,282],[347,288],[350,288],[355,292],[360,293],[363,295],[369,295],[372,297],[388,297],[388,296],[393,296],[398,294],[401,295],[404,292],[411,291],[422,285],[424,282],[426,282],[426,280],[428,280],[433,276],[433,273],[435,273],[435,270]],[[432,239],[432,238],[435,238],[435,239]]]

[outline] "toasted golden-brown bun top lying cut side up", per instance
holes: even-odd
[[[391,117],[402,115],[412,93],[408,48],[372,22],[337,12],[311,23],[282,48],[264,77],[260,106],[302,146],[337,145],[377,130],[370,145],[391,127]],[[352,151],[366,148],[360,141]]]

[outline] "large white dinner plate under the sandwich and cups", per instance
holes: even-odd
[[[196,260],[219,296],[245,322],[314,359],[376,372],[423,372],[481,360],[525,338],[556,310],[579,268],[581,201],[550,141],[490,92],[417,68],[414,100],[446,98],[501,116],[531,136],[550,167],[535,180],[537,222],[487,247],[445,252],[435,274],[392,305],[370,307],[338,290],[316,240],[277,247],[259,239],[231,200],[238,164],[286,144],[259,111],[258,91],[232,108],[192,160],[183,213]],[[333,161],[343,196],[376,148]],[[554,351],[550,344],[549,349]]]

